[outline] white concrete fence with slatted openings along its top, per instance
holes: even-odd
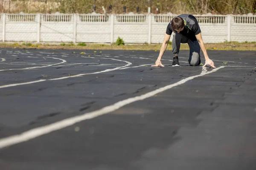
[[[174,14],[1,14],[0,40],[162,43]],[[204,42],[256,41],[256,15],[195,15]],[[171,37],[172,38],[172,37]]]

